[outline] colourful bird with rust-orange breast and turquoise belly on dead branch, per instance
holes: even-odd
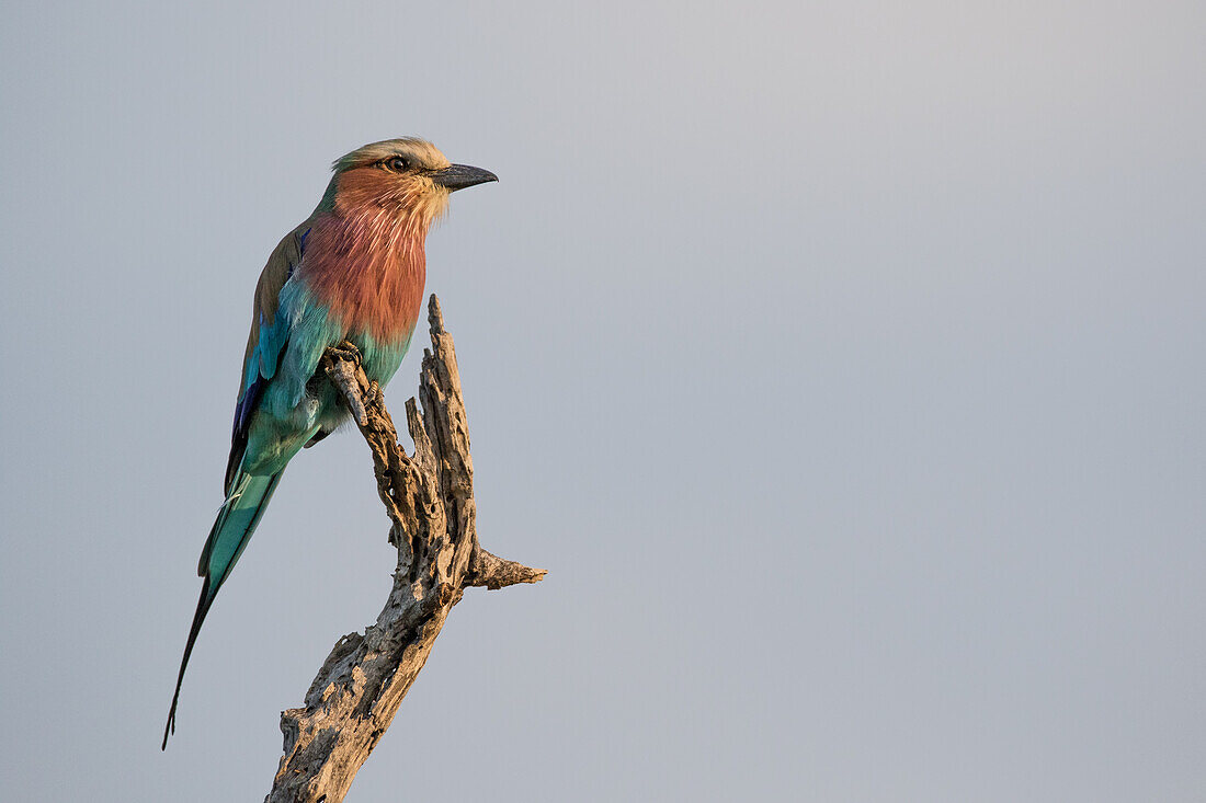
[[[399,137],[340,157],[317,207],[285,235],[256,286],[234,410],[226,499],[197,568],[201,596],[176,676],[162,750],[176,729],[185,669],[213,599],[239,561],[285,467],[346,420],[334,386],[316,375],[341,341],[385,387],[410,345],[427,275],[425,244],[449,195],[498,176],[452,164],[431,142]]]

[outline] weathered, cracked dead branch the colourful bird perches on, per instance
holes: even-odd
[[[406,402],[414,457],[398,445],[385,397],[365,377],[356,347],[344,342],[323,356],[322,369],[344,394],[373,452],[398,563],[376,623],[341,638],[310,685],[305,707],[281,714],[285,755],[265,803],[343,801],[464,588],[502,588],[545,575],[478,545],[461,377],[435,295],[428,321],[432,348],[423,352],[420,374],[422,412],[415,399]]]

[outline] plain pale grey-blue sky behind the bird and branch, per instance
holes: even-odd
[[[345,432],[159,752],[256,277],[405,134],[502,177],[428,289],[482,543],[550,574],[351,801],[1206,798],[1204,8],[6,2],[5,798],[259,799],[375,619]]]

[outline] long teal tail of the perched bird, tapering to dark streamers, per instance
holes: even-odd
[[[252,476],[242,474],[235,479],[234,490],[227,497],[222,510],[218,511],[217,521],[210,531],[210,538],[201,550],[201,561],[197,567],[197,573],[205,578],[201,585],[201,598],[197,603],[197,612],[193,614],[193,627],[188,631],[188,641],[185,644],[185,657],[180,661],[180,674],[176,676],[176,692],[171,696],[171,710],[168,713],[168,725],[163,729],[162,750],[168,749],[168,735],[176,731],[176,703],[180,702],[180,685],[185,680],[185,668],[188,667],[188,657],[193,653],[193,644],[197,643],[197,634],[201,629],[201,622],[217,597],[218,588],[226,582],[230,569],[234,568],[244,547],[251,540],[251,534],[256,531],[256,524],[264,515],[273,491],[281,479],[281,471],[276,474]]]

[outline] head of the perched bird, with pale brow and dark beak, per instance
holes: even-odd
[[[498,176],[451,164],[426,140],[382,140],[339,158],[320,209],[338,215],[382,212],[425,229],[447,210],[449,194]]]

